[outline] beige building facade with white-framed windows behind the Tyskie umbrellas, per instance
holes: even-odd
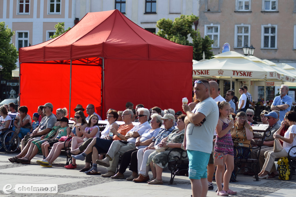
[[[279,0],[200,0],[199,24],[201,35],[214,40],[214,54],[222,52],[224,43],[229,43],[231,51],[243,53],[242,47],[255,47],[254,56],[274,63],[287,63],[296,68],[296,1]],[[223,92],[227,83],[220,83]],[[235,82],[235,91],[248,81]],[[251,82],[253,99],[263,99],[264,83]],[[225,89],[226,88],[226,89]],[[292,90],[292,98],[295,96]],[[227,91],[227,90],[226,90]],[[266,100],[278,93],[279,87],[266,87]],[[238,96],[238,95],[237,95]]]

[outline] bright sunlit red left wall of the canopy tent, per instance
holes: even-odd
[[[81,104],[94,104],[101,113],[101,71],[99,66],[72,65],[71,109]],[[53,113],[66,107],[69,113],[70,65],[50,62],[22,63],[20,66],[20,106],[28,107],[28,114],[37,112],[39,105],[53,104]],[[87,116],[86,111],[84,114]]]

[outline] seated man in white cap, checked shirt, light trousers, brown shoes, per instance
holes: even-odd
[[[146,148],[141,148],[137,152],[139,177],[133,179],[133,181],[136,183],[146,183],[149,180],[149,165],[147,166],[147,162],[149,155],[155,151],[154,146],[158,145],[163,138],[168,137],[170,133],[179,131],[179,129],[174,126],[175,116],[173,114],[165,114],[161,119],[163,120],[163,125],[165,126],[165,128],[159,131],[158,135],[156,136],[156,138],[153,139],[152,143],[149,146],[147,146]],[[154,180],[155,178],[156,177],[152,178],[152,180]],[[156,182],[157,181],[155,181],[155,183]],[[160,181],[157,183],[160,183]]]

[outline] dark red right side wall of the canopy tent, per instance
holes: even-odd
[[[105,59],[104,111],[124,110],[131,101],[146,108],[182,111],[192,98],[192,63]]]

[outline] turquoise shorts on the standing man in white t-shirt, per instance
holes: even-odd
[[[207,178],[207,164],[210,154],[187,150],[187,155],[189,159],[189,179]]]

